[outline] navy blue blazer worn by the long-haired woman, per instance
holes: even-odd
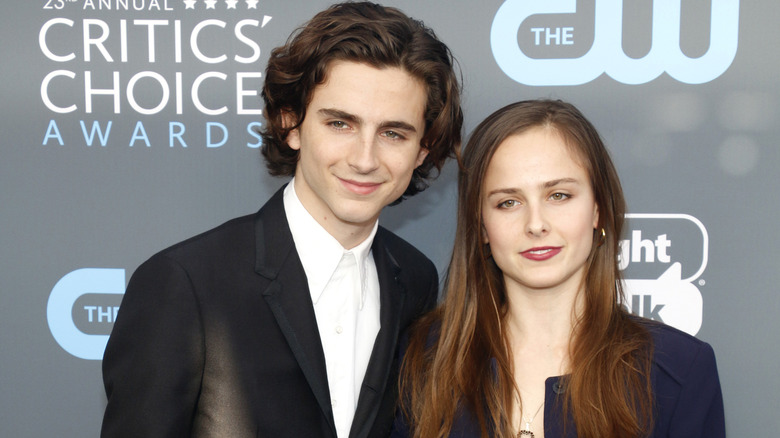
[[[715,353],[709,344],[664,324],[648,323],[654,342],[651,381],[655,398],[655,424],[649,438],[725,438],[723,396]],[[563,433],[558,394],[566,391],[560,377],[545,382],[544,436],[576,438],[573,427]],[[401,414],[393,438],[409,436]],[[455,418],[452,438],[479,437],[479,423],[468,411]]]

